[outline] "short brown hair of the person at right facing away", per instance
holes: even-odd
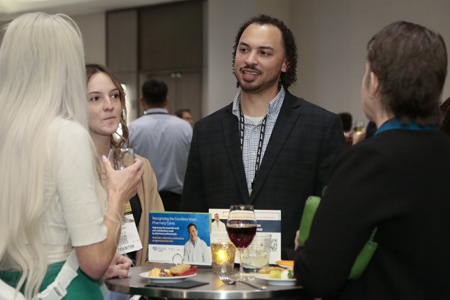
[[[398,21],[367,44],[367,61],[379,80],[383,107],[403,123],[438,124],[447,76],[442,36],[423,26]]]

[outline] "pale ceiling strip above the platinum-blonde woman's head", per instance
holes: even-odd
[[[176,1],[180,0],[0,0],[0,21],[34,11],[75,16]]]

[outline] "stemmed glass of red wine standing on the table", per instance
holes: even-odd
[[[253,241],[256,234],[256,218],[253,205],[231,205],[228,213],[227,232],[231,242],[239,249],[240,264],[236,280],[244,281],[242,261],[244,249]]]

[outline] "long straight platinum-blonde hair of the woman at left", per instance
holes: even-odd
[[[59,128],[71,120],[88,130],[83,42],[71,18],[30,13],[6,26],[0,107],[0,266],[23,271],[17,290],[31,299],[47,271],[44,174],[55,178]],[[95,186],[105,211],[99,180]]]

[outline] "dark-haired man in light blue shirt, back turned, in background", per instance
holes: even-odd
[[[168,114],[167,85],[159,79],[143,84],[139,101],[145,115],[130,124],[130,146],[152,164],[166,211],[179,211],[192,127]]]

